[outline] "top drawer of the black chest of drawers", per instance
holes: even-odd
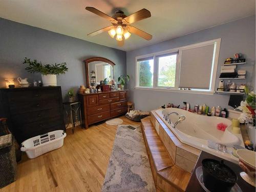
[[[59,90],[34,90],[34,91],[15,91],[9,92],[8,98],[10,103],[23,103],[26,101],[50,100],[59,98]]]

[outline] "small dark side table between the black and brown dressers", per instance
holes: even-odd
[[[69,109],[65,109],[66,114],[67,114],[67,127],[69,124],[72,124],[72,133],[74,134],[74,127],[78,124],[78,115],[80,118],[80,123],[81,123],[81,103],[79,101],[74,101],[74,102],[63,102],[63,105],[67,105]],[[79,114],[78,114],[79,112]],[[74,113],[74,116],[73,116]],[[74,119],[73,119],[74,118]]]

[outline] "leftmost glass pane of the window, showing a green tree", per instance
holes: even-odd
[[[153,57],[138,59],[137,67],[139,71],[139,87],[153,87]]]

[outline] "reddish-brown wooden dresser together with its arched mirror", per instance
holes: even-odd
[[[114,79],[115,63],[103,57],[92,57],[84,60],[86,65],[87,87],[100,84],[105,78]],[[92,71],[94,73],[92,73]],[[92,75],[94,77],[92,78]],[[82,126],[110,119],[127,112],[127,90],[106,91],[97,93],[79,93],[81,102]]]

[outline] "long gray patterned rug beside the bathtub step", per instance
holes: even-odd
[[[141,127],[118,125],[102,191],[156,191]]]

